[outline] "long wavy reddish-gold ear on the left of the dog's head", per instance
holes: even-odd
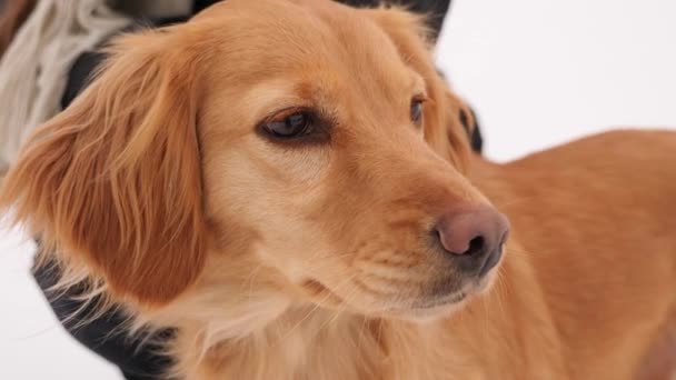
[[[145,304],[186,290],[205,260],[201,58],[176,34],[118,39],[92,84],[26,144],[0,197],[48,247]]]

